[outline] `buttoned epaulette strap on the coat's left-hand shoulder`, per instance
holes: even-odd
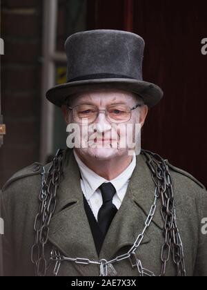
[[[17,171],[17,173],[14,173],[14,175],[12,175],[12,177],[6,182],[6,184],[4,184],[2,191],[8,189],[11,184],[18,180],[23,180],[26,177],[32,177],[34,175],[39,175],[42,170],[42,164],[40,164],[39,162],[32,163],[30,166],[27,166],[20,171]]]

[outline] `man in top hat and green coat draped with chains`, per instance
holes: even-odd
[[[4,274],[207,276],[206,189],[136,148],[148,107],[163,95],[142,79],[144,40],[117,30],[79,32],[66,41],[66,54],[68,82],[47,97],[69,127],[77,125],[75,133],[68,128],[75,148],[3,186]]]

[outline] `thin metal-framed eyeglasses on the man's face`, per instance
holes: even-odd
[[[106,118],[109,122],[121,124],[128,122],[132,117],[132,110],[141,106],[141,104],[137,104],[135,107],[130,108],[125,104],[115,104],[108,106],[106,110],[99,110],[97,106],[81,104],[74,108],[68,106],[68,109],[72,110],[73,119],[79,124],[83,124],[83,122],[92,124],[96,121],[99,112],[105,112]]]

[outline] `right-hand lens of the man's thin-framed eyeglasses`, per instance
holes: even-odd
[[[128,122],[131,110],[126,105],[113,105],[108,108],[108,117],[113,122]]]

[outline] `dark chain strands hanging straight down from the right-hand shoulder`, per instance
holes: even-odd
[[[186,276],[184,263],[184,247],[177,227],[174,192],[172,178],[166,161],[155,153],[142,151],[147,158],[147,164],[152,171],[152,180],[155,182],[161,197],[161,217],[164,221],[165,242],[161,248],[161,274],[166,275],[166,266],[172,255],[177,276]]]

